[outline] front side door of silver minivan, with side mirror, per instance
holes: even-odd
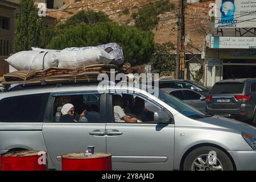
[[[139,93],[133,93],[145,102],[164,108]],[[114,121],[112,94],[107,95],[109,108],[106,124],[107,151],[112,154],[113,170],[172,170],[174,164],[174,121],[168,123],[141,122],[116,123]],[[153,106],[145,103],[146,110]],[[154,109],[152,109],[154,110]],[[168,113],[168,111],[166,111]],[[151,112],[151,115],[154,114]],[[149,113],[149,115],[150,115]],[[172,118],[171,113],[168,113]],[[153,119],[154,120],[154,119]]]

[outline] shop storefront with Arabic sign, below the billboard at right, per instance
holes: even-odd
[[[229,78],[256,78],[256,38],[218,37],[211,43],[205,61],[205,86]]]

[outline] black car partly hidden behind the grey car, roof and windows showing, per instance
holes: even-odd
[[[159,80],[159,88],[191,89],[203,94],[204,96],[210,91],[209,88],[189,80]]]

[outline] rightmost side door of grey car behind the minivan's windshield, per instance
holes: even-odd
[[[183,90],[183,93],[185,96],[184,102],[186,102],[189,105],[192,105],[197,110],[205,112],[206,102],[205,102],[205,100],[203,100],[203,101],[200,100],[200,97],[202,97],[201,94],[199,94],[193,90]]]

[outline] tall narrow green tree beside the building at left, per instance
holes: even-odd
[[[34,0],[20,0],[20,9],[21,13],[15,19],[14,52],[30,50],[31,46],[39,46],[43,26]]]

